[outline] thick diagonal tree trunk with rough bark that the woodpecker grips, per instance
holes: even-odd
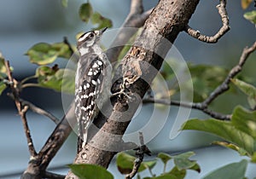
[[[198,3],[199,0],[161,0],[158,3],[152,14],[149,15],[148,20],[146,20],[143,32],[137,37],[134,46],[122,61],[123,66],[125,66],[123,67],[123,76],[129,78],[129,76],[135,74],[135,76],[140,77],[137,80],[130,81],[128,91],[137,94],[141,99],[143,98],[149,84],[156,75],[150,71],[147,64],[151,64],[157,70],[160,69],[163,58],[172,47],[178,33],[182,32],[187,26]],[[166,39],[171,43],[167,43]],[[141,79],[143,77],[147,78],[148,83]],[[128,104],[120,99],[116,100],[113,102],[108,120],[102,115],[96,118],[101,130],[91,138],[78,154],[74,163],[102,165],[108,168],[116,151],[127,148],[121,137],[113,137],[113,134],[121,136],[125,133],[139,105],[139,97]],[[120,113],[127,111],[128,108],[129,113]],[[115,148],[116,151],[101,148]],[[69,172],[67,178],[73,177],[73,174]]]

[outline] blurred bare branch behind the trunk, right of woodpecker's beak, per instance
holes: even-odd
[[[152,9],[143,13],[143,1],[142,0],[131,0],[130,13],[125,19],[124,24],[121,26],[116,38],[113,39],[113,43],[106,52],[108,59],[111,62],[117,61],[121,50],[124,48],[124,44],[128,42],[131,36],[136,33],[135,30],[125,30],[124,27],[141,27],[145,20],[148,19]]]

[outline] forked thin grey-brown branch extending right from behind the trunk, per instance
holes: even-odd
[[[149,97],[147,99],[144,99],[143,103],[159,103],[164,105],[189,107],[189,108],[201,110],[203,113],[207,113],[212,118],[217,118],[221,120],[230,119],[231,118],[230,114],[217,113],[210,110],[208,107],[212,103],[212,101],[214,101],[218,97],[218,95],[221,95],[226,90],[229,90],[231,79],[234,78],[239,72],[241,72],[242,67],[247,61],[248,56],[252,54],[255,49],[256,49],[256,42],[253,43],[253,45],[250,48],[246,47],[245,49],[243,49],[239,63],[230,70],[230,73],[227,76],[227,78],[224,79],[224,82],[220,84],[215,90],[213,90],[212,93],[207,97],[205,101],[194,103],[194,102],[183,102],[183,101],[168,101],[166,99],[154,99],[153,97]]]

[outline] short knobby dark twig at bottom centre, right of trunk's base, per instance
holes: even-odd
[[[131,170],[131,173],[127,174],[125,176],[125,179],[131,179],[131,178],[133,178],[133,176],[135,176],[137,174],[137,170],[139,169],[140,165],[143,162],[145,153],[148,155],[151,155],[151,152],[149,151],[148,147],[144,144],[142,132],[139,132],[139,139],[140,139],[141,146],[135,149],[135,150],[137,150],[136,155],[138,157],[137,157],[137,159],[134,160],[134,165]]]

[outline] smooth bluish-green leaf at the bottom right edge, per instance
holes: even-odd
[[[241,162],[232,163],[230,165],[225,165],[217,170],[212,171],[203,179],[242,179],[245,177],[245,172],[247,170],[247,160],[243,159]]]

